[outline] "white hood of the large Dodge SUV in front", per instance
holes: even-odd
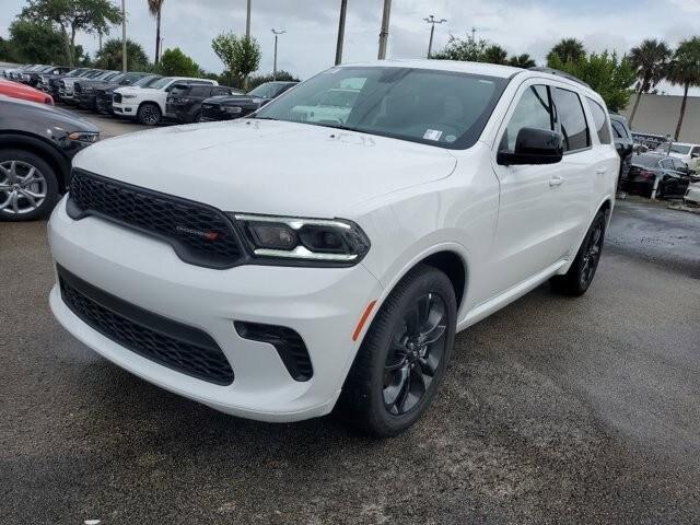
[[[346,217],[366,200],[447,177],[447,150],[298,122],[241,119],[101,141],[73,166],[225,211]]]

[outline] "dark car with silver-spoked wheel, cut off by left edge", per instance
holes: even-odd
[[[68,187],[71,159],[98,137],[69,112],[0,95],[0,220],[46,215]]]

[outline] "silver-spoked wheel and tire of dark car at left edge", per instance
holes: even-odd
[[[40,219],[57,200],[58,178],[44,159],[31,151],[0,150],[0,220]]]

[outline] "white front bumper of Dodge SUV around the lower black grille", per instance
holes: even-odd
[[[264,421],[328,413],[360,345],[352,334],[378,281],[351,268],[240,266],[212,270],[183,262],[170,245],[89,217],[73,221],[66,199],[48,228],[54,259],[71,273],[140,308],[203,330],[219,345],[235,380],[220,386],[143,358],[103,336],[50,294],[57,319],[95,351],[163,388],[214,409]],[[314,369],[294,381],[270,343],[243,339],[234,320],[292,328]],[[365,327],[366,328],[366,327]]]

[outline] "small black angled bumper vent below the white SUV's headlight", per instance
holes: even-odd
[[[235,322],[236,331],[244,339],[269,342],[294,381],[308,381],[314,375],[308,350],[302,337],[291,328],[260,323]]]

